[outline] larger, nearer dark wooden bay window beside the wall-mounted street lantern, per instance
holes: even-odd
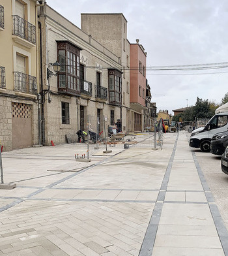
[[[61,70],[58,72],[58,87],[80,91],[79,52],[80,49],[68,41],[57,42],[58,61]]]

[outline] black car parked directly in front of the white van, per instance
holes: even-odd
[[[228,146],[228,131],[216,133],[210,141],[210,152],[215,155],[222,155]]]

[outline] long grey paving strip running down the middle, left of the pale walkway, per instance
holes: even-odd
[[[178,135],[175,140],[175,144],[173,147],[173,152],[171,154],[171,157],[169,159],[169,163],[167,165],[167,169],[165,171],[165,176],[162,181],[162,185],[160,188],[160,192],[158,193],[158,199],[154,206],[154,210],[152,212],[152,216],[150,217],[150,222],[147,227],[147,232],[145,233],[145,237],[143,240],[143,243],[141,245],[141,249],[139,251],[139,256],[150,256],[152,255],[152,250],[154,248],[154,241],[156,238],[156,232],[158,230],[158,223],[160,221],[160,216],[162,214],[162,207],[165,199],[165,192],[167,189],[167,185],[169,182],[169,176],[171,173],[171,168],[173,165],[173,159],[175,156],[175,152],[177,150],[177,141],[178,141]]]

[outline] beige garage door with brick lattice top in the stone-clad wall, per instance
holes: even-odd
[[[33,146],[32,140],[32,106],[12,103],[12,148]]]

